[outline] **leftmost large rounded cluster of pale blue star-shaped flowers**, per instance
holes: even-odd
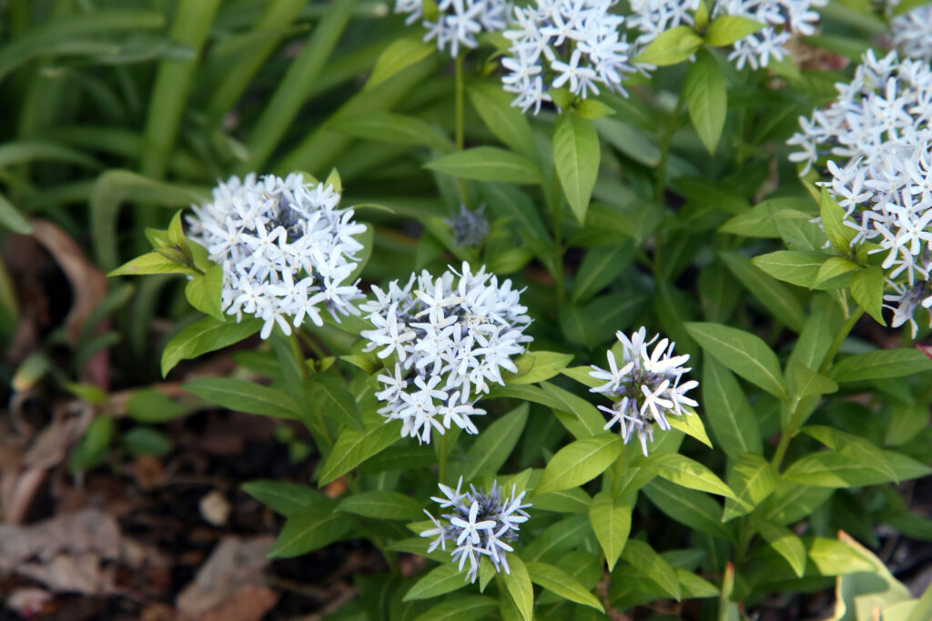
[[[336,209],[333,186],[305,183],[299,173],[240,180],[231,177],[213,189],[213,201],[192,206],[191,238],[223,267],[221,308],[227,315],[254,315],[265,321],[262,338],[277,323],[291,334],[306,317],[322,325],[322,308],[359,315],[351,304],[363,297],[347,280],[363,245],[353,238],[365,226],[352,209]]]

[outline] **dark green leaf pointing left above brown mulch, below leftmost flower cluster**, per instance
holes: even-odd
[[[182,387],[189,393],[234,412],[301,420],[301,406],[286,393],[232,377],[206,377]]]

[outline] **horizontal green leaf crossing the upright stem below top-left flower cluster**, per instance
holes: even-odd
[[[542,181],[541,169],[524,155],[494,146],[477,146],[450,155],[441,155],[424,168],[459,179],[482,182],[535,184]]]

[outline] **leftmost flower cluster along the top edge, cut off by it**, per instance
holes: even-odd
[[[396,0],[395,13],[407,13],[405,23],[421,18],[427,28],[424,41],[435,40],[437,49],[450,48],[456,58],[459,47],[476,47],[475,35],[500,32],[507,26],[511,3],[507,0],[439,0],[437,15],[424,14],[423,0]]]

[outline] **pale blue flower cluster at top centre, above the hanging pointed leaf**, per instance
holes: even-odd
[[[549,88],[569,88],[580,98],[599,94],[598,85],[627,94],[622,88],[632,47],[620,33],[624,17],[609,12],[611,0],[537,0],[514,8],[514,30],[501,64],[508,71],[503,88],[514,93],[512,105],[537,114],[551,101]]]

